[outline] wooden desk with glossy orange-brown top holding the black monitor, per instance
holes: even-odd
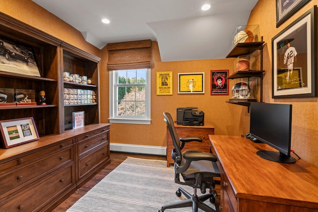
[[[278,163],[256,155],[273,150],[238,136],[209,136],[221,170],[222,212],[317,212],[318,168],[297,158]]]

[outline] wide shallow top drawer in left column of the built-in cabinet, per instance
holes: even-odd
[[[73,145],[73,140],[68,140],[63,143],[59,143],[54,146],[51,146],[49,148],[37,151],[34,154],[31,153],[25,156],[18,157],[14,160],[10,160],[8,162],[2,163],[0,164],[0,177],[2,177],[3,175],[6,175],[8,172],[13,171],[14,169],[30,164],[38,160],[39,158],[44,157],[45,155],[49,155],[54,153],[55,151],[59,151],[63,148],[66,148],[69,145]]]

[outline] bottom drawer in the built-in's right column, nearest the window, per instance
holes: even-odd
[[[79,179],[82,178],[87,172],[92,170],[99,163],[108,159],[109,155],[109,142],[104,142],[99,149],[83,156],[79,159]]]

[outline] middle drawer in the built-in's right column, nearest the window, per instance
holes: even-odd
[[[92,139],[85,139],[84,141],[80,141],[78,144],[79,157],[81,157],[84,153],[87,153],[88,151],[97,148],[100,144],[102,144],[105,141],[108,141],[108,132],[98,134]]]

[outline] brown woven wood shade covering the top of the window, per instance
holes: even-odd
[[[107,49],[109,71],[151,68],[151,40],[110,43]]]

